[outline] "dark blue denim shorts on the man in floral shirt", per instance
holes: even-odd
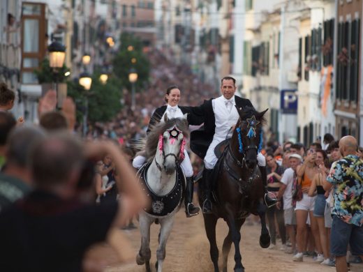
[[[338,216],[333,216],[330,234],[332,256],[346,256],[348,244],[352,255],[363,255],[363,227],[348,224]]]

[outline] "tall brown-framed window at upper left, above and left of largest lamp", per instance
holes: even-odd
[[[45,33],[47,22],[45,20],[45,4],[22,4],[22,83],[37,83],[34,70],[39,68],[47,51]]]

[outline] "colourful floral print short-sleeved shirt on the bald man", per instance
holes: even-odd
[[[344,222],[363,225],[363,160],[348,155],[333,163],[327,181],[334,186],[335,214]]]

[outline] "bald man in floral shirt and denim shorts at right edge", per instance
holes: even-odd
[[[353,255],[363,258],[363,160],[357,156],[357,139],[339,141],[341,160],[333,163],[323,181],[324,190],[334,189],[330,252],[336,257],[336,271],[346,272],[348,244]]]

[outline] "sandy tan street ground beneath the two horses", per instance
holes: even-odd
[[[131,247],[136,252],[140,247],[140,233],[138,229],[121,231],[130,239]],[[228,227],[223,220],[218,221],[217,225],[217,243],[220,248],[221,262],[221,245],[228,232]],[[151,227],[151,262],[156,262],[158,225]],[[333,272],[334,268],[323,266],[313,262],[313,259],[306,257],[304,262],[292,262],[292,255],[288,255],[279,249],[269,250],[262,249],[258,244],[260,235],[259,225],[244,225],[242,227],[242,239],[240,247],[242,250],[242,263],[246,271],[286,271],[286,272]],[[276,248],[279,248],[277,246]],[[144,266],[138,266],[135,262],[130,264],[117,264],[117,258],[114,252],[107,246],[100,251],[103,260],[108,260],[110,264],[106,271],[145,271]],[[233,259],[234,250],[232,250],[228,259],[228,271],[233,271],[235,265]],[[98,255],[98,257],[100,257]],[[166,248],[166,258],[163,271],[213,271],[212,262],[209,258],[209,243],[205,236],[202,216],[186,218],[184,211],[177,213],[174,229],[170,234],[170,239]],[[363,271],[362,265],[355,265],[351,271]]]

